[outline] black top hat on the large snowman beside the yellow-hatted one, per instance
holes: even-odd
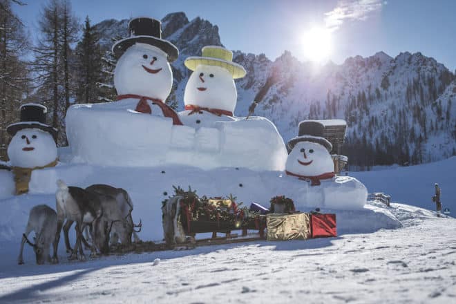
[[[168,61],[178,59],[179,50],[171,42],[162,39],[162,23],[156,19],[139,17],[129,22],[130,37],[117,41],[113,46],[116,58],[122,56],[127,48],[139,42],[160,48],[168,55]]]

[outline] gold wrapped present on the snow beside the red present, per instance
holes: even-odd
[[[310,238],[310,216],[307,213],[266,216],[267,240],[306,240]]]

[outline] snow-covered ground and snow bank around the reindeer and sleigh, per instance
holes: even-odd
[[[429,201],[433,183],[438,182],[444,207],[455,212],[455,157],[416,167],[354,173],[369,192],[384,191],[393,201],[408,205],[387,208],[370,202],[363,209],[323,209],[337,213],[337,238],[261,241],[87,262],[68,262],[61,242],[59,265],[35,265],[27,245],[26,265],[17,265],[28,210],[39,203],[54,207],[57,177],[82,187],[106,182],[128,189],[135,202],[133,218],[142,218],[144,224],[140,234],[144,240],[161,239],[161,201],[171,194],[173,184],[190,184],[210,196],[234,193],[246,204],[263,205],[276,191],[287,194],[283,191],[294,184],[280,182],[278,173],[245,169],[122,170],[61,164],[56,171],[39,173],[31,183],[32,193],[0,199],[0,303],[456,301],[456,220],[410,206],[433,209]],[[48,176],[53,174],[58,176]],[[158,265],[153,263],[156,259],[160,259]]]

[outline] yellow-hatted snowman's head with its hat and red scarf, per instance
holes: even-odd
[[[202,57],[189,57],[184,64],[192,70],[184,91],[184,125],[200,128],[216,121],[232,121],[238,93],[234,79],[245,76],[245,69],[234,63],[233,53],[221,46],[205,46]]]

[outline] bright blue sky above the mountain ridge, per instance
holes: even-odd
[[[14,6],[15,11],[35,35],[39,10],[47,0],[23,1],[28,5]],[[199,16],[216,24],[227,48],[265,53],[270,59],[290,50],[305,61],[306,48],[315,44],[303,37],[318,27],[330,31],[332,51],[325,60],[336,64],[380,50],[392,57],[419,51],[456,69],[455,0],[73,0],[72,5],[81,21],[88,15],[93,23],[135,16],[160,19],[182,11],[190,20]]]

